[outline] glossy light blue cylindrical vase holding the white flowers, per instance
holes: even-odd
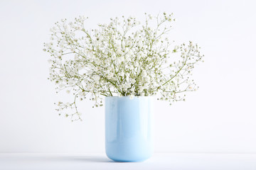
[[[115,162],[141,162],[153,154],[153,98],[105,98],[105,147]]]

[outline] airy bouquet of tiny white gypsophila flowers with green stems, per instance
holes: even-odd
[[[80,16],[55,23],[43,49],[51,57],[48,79],[57,91],[66,89],[74,96],[73,103],[57,103],[60,112],[75,109],[67,117],[80,119],[76,98],[90,98],[97,107],[104,96],[157,95],[171,104],[198,88],[190,77],[203,55],[192,42],[173,45],[168,39],[173,14],[146,14],[143,24],[134,17],[110,18],[91,30],[85,29],[86,20]]]

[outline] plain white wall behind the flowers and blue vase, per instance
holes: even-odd
[[[256,152],[254,1],[1,1],[0,152],[104,152],[104,108],[82,103],[82,122],[55,113],[47,80],[49,28],[60,18],[174,12],[171,38],[206,55],[186,102],[156,103],[156,152]]]

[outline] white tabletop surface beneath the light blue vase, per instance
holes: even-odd
[[[145,162],[112,162],[105,154],[0,154],[0,170],[9,169],[169,169],[255,170],[256,154],[156,153]]]

